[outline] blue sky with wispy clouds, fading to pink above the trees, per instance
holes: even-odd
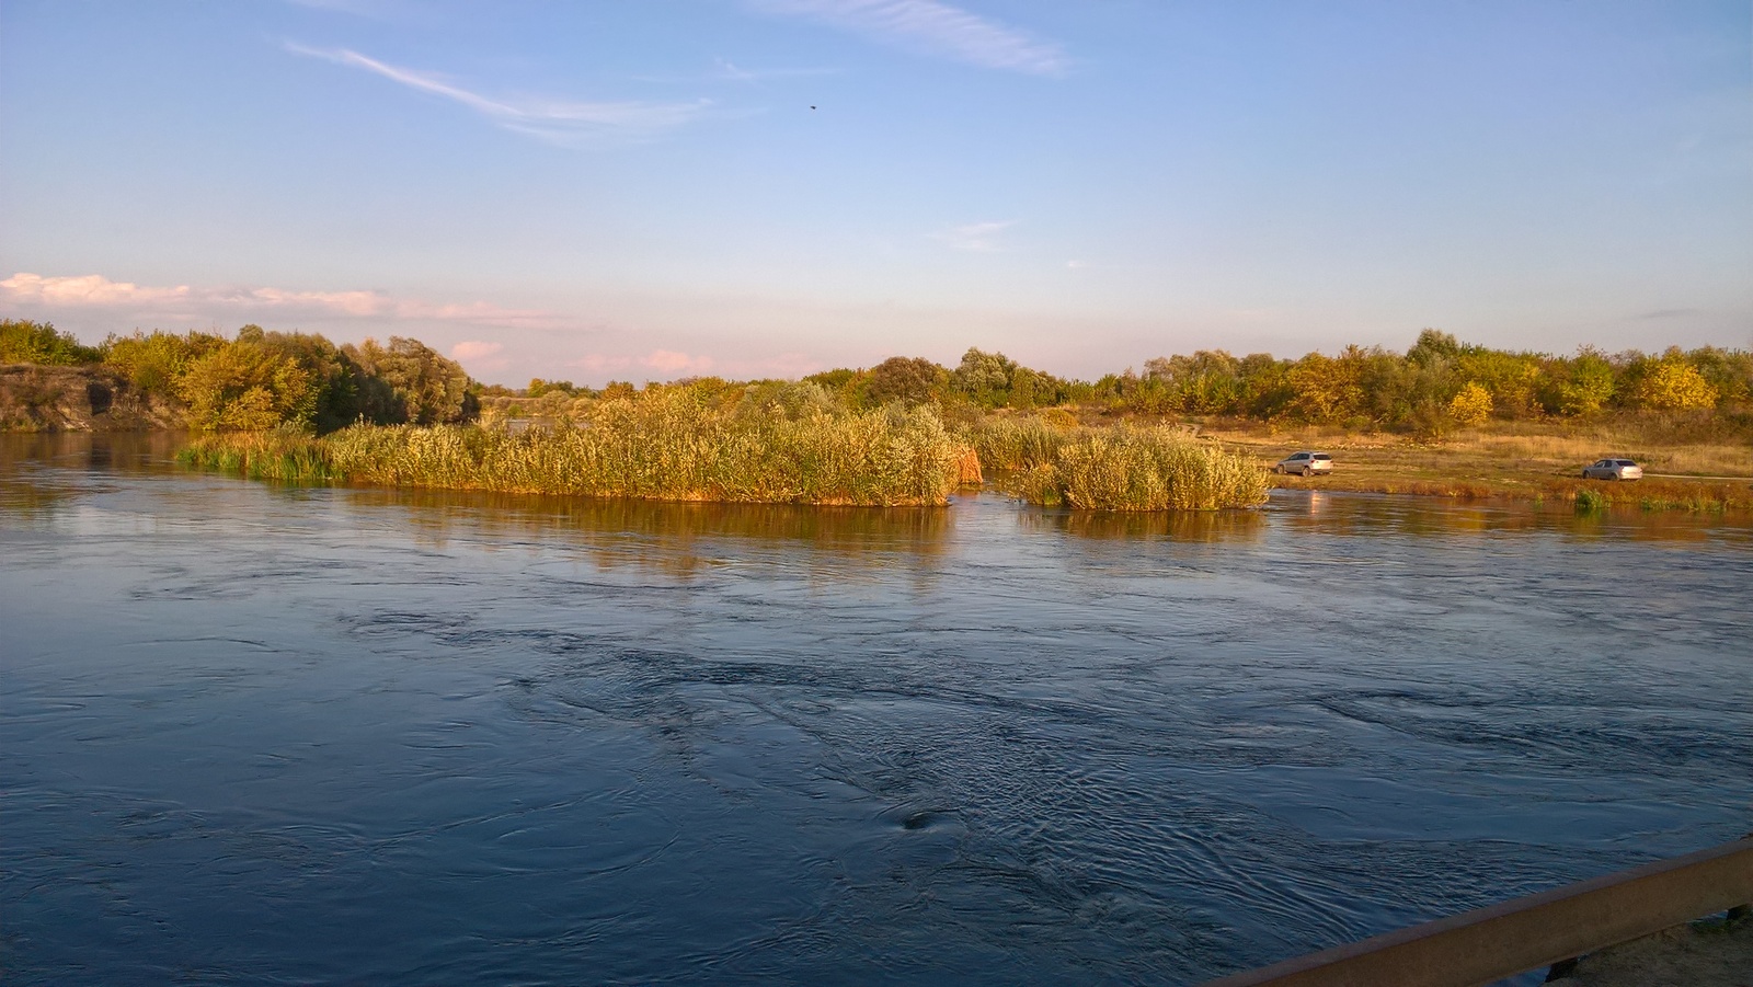
[[[1753,4],[5,0],[0,316],[486,382],[1753,347]]]

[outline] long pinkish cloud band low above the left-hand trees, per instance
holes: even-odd
[[[44,277],[19,272],[0,280],[0,310],[110,309],[163,319],[370,319],[407,323],[459,323],[496,328],[559,328],[566,319],[533,309],[503,309],[486,302],[454,303],[394,298],[382,291],[291,291],[284,288],[191,288],[110,280],[102,273]]]

